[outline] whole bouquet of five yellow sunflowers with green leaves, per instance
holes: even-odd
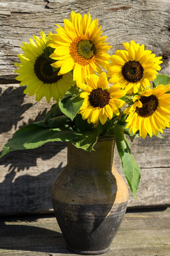
[[[132,140],[161,137],[170,122],[170,78],[158,75],[162,57],[131,41],[125,50],[107,52],[111,46],[101,36],[98,19],[72,11],[64,27],[48,36],[41,31],[21,46],[15,63],[24,93],[55,101],[40,122],[19,129],[4,146],[10,151],[34,149],[47,142],[71,142],[94,150],[98,137],[114,137],[123,171],[136,195],[140,168],[126,135]],[[34,40],[33,40],[34,39]]]

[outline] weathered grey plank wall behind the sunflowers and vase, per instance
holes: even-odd
[[[162,73],[170,75],[169,0],[67,0],[0,1],[0,151],[18,127],[39,120],[50,108],[45,100],[23,95],[15,80],[13,63],[22,53],[21,43],[40,31],[55,33],[55,23],[63,24],[70,12],[90,12],[98,18],[104,36],[113,46],[110,53],[134,40],[162,55]],[[51,102],[52,103],[52,102]],[[132,152],[141,168],[138,201],[130,195],[129,207],[170,204],[170,130],[165,139],[135,139]],[[47,213],[52,210],[50,191],[55,177],[67,163],[62,143],[39,149],[17,151],[0,160],[0,214]],[[115,152],[115,166],[122,174]],[[123,175],[123,174],[122,174]]]

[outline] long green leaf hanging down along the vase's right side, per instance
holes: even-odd
[[[131,154],[128,139],[124,135],[123,127],[119,124],[115,126],[115,142],[122,161],[125,178],[134,198],[136,198],[137,188],[140,184],[140,167]]]

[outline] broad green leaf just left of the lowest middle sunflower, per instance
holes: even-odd
[[[72,87],[69,92],[67,92],[62,100],[59,102],[59,107],[62,113],[64,113],[70,119],[74,119],[79,109],[84,101],[81,97],[79,97],[79,90],[75,87]]]

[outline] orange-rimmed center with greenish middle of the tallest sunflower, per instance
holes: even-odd
[[[75,63],[80,65],[88,65],[94,60],[96,55],[96,47],[94,43],[86,36],[78,36],[71,43],[69,53]]]

